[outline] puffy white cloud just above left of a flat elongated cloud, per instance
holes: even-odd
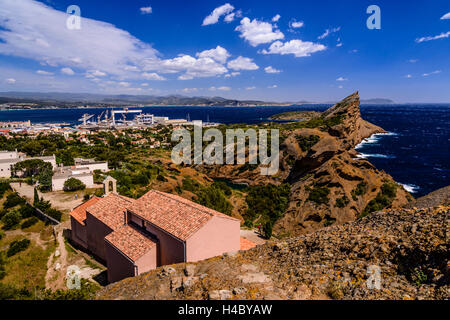
[[[256,47],[263,43],[271,43],[278,39],[284,39],[284,34],[279,30],[274,30],[271,23],[258,21],[245,17],[241,20],[241,24],[236,27],[240,37],[247,40],[251,46]]]

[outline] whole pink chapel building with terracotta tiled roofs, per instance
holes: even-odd
[[[106,263],[109,282],[242,245],[238,219],[156,190],[139,199],[93,197],[70,215],[72,241]]]

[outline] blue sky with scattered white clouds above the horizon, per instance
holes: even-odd
[[[450,102],[449,67],[448,0],[0,4],[0,91]]]

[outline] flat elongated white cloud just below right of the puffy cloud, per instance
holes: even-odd
[[[262,50],[263,54],[293,54],[295,57],[309,57],[312,53],[325,50],[327,47],[320,44],[302,40],[291,40],[288,42],[276,41],[272,43],[269,50]]]

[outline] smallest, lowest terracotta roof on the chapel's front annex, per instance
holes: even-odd
[[[129,225],[122,226],[105,237],[130,260],[136,261],[153,248],[156,243]]]

